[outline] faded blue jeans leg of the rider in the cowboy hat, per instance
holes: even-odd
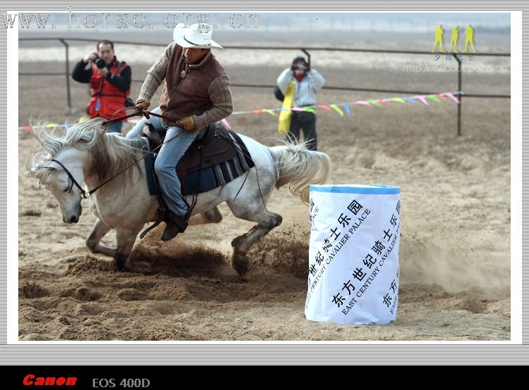
[[[187,206],[181,196],[180,181],[176,172],[177,163],[184,156],[184,153],[186,153],[186,150],[191,146],[197,135],[197,130],[186,132],[180,127],[169,127],[165,135],[167,143],[160,148],[154,163],[154,170],[158,176],[167,208],[179,217],[186,215]]]

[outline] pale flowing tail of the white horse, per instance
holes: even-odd
[[[303,144],[274,146],[270,151],[276,162],[276,188],[288,184],[293,195],[308,203],[309,184],[324,184],[329,176],[329,156],[310,151]]]

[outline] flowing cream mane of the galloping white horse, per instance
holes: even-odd
[[[135,152],[141,147],[141,141],[107,133],[102,125],[103,121],[101,118],[94,118],[78,123],[68,127],[63,137],[47,130],[45,122],[32,124],[33,134],[39,141],[40,148],[28,158],[27,170],[46,184],[53,175],[46,166],[59,151],[68,146],[89,152],[89,175],[96,175],[101,181],[132,165],[136,160]],[[127,170],[125,177],[132,178],[134,167],[137,168],[138,165]]]

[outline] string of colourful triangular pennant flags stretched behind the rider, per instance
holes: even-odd
[[[231,113],[231,115],[243,115],[243,114],[259,114],[259,113],[268,113],[269,115],[278,116],[278,113],[280,111],[307,111],[310,113],[316,113],[317,109],[324,110],[324,111],[335,111],[340,116],[345,116],[349,118],[349,120],[352,120],[352,106],[369,106],[369,107],[381,107],[388,103],[396,102],[396,103],[412,103],[412,104],[419,104],[423,103],[425,106],[428,106],[428,101],[435,101],[436,103],[440,103],[441,101],[454,101],[455,103],[460,103],[457,96],[464,95],[464,92],[457,91],[457,92],[442,92],[440,94],[427,94],[427,95],[415,95],[415,96],[406,96],[406,97],[393,97],[393,98],[386,98],[386,99],[370,99],[370,100],[358,100],[352,103],[332,103],[332,104],[316,104],[315,106],[305,106],[305,107],[293,107],[291,109],[288,108],[259,108],[256,110],[249,110],[249,111],[234,111]],[[84,116],[79,119],[79,122],[83,122],[84,120],[87,120],[87,117]],[[139,122],[139,119],[129,119],[128,122],[131,123],[137,123]],[[229,122],[224,118],[221,120],[222,124],[226,126],[228,129],[231,129],[231,126],[229,125]],[[49,123],[46,125],[46,127],[68,127],[65,123],[57,124],[57,123]],[[21,126],[18,127],[18,130],[25,130],[27,132],[32,132],[32,129],[30,126]]]

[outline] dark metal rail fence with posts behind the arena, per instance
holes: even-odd
[[[18,73],[19,76],[63,76],[66,78],[66,99],[68,101],[68,108],[72,107],[72,99],[70,94],[70,54],[67,41],[72,42],[91,42],[90,39],[80,38],[19,38],[19,41],[58,41],[63,44],[65,48],[65,72],[64,73]],[[115,44],[134,44],[136,46],[161,46],[165,47],[165,44],[148,44],[148,43],[137,43],[137,42],[124,42],[124,41],[113,41]],[[329,48],[329,47],[298,47],[298,46],[223,46],[224,49],[237,49],[237,50],[300,50],[309,59],[310,52],[314,51],[347,51],[357,53],[383,53],[383,54],[414,54],[414,55],[428,55],[432,53],[428,51],[404,51],[404,50],[378,50],[378,49],[348,49],[348,48]],[[510,53],[472,53],[472,56],[491,56],[491,57],[510,57]],[[457,91],[462,91],[462,76],[463,76],[463,63],[457,54],[452,54],[457,61]],[[132,80],[132,82],[144,82],[144,80]],[[272,89],[273,85],[266,84],[231,84],[231,87],[250,87],[250,88],[268,88]],[[417,94],[427,95],[435,94],[435,92],[424,92],[424,91],[408,91],[405,89],[380,89],[380,88],[353,88],[353,87],[324,87],[323,89],[337,90],[337,91],[359,91],[359,92],[384,92],[384,93],[395,93],[395,94]],[[457,135],[461,135],[461,106],[463,104],[463,96],[465,98],[495,98],[495,99],[510,99],[511,95],[506,94],[459,94],[459,104],[457,105]]]

